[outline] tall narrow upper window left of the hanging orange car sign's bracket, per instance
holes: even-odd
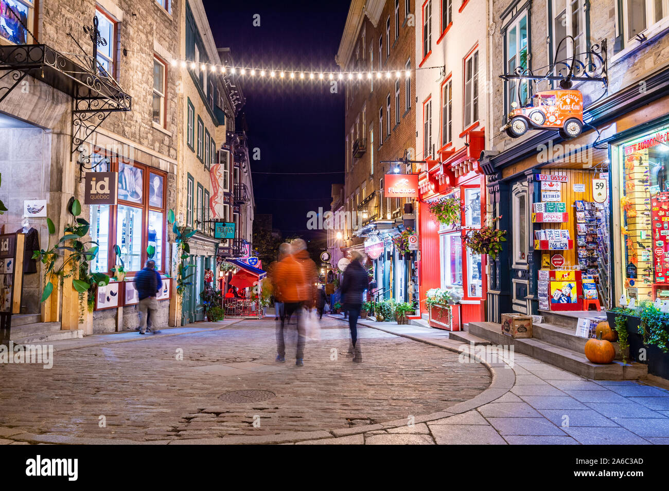
[[[506,29],[504,40],[506,43],[506,73],[514,73],[516,67],[527,69],[529,57],[528,39],[527,12],[524,12]],[[505,81],[504,84],[506,85],[506,112],[510,110],[512,102],[515,102],[520,107],[527,104],[530,97],[529,80],[511,79]]]

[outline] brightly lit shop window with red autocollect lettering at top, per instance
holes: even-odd
[[[614,181],[613,188],[619,188],[620,206],[613,204],[612,209],[619,209],[625,230],[619,239],[622,284],[626,297],[637,303],[669,299],[668,142],[669,128],[662,128],[623,144],[619,151],[619,186]]]

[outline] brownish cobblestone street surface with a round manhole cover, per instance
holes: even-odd
[[[194,325],[200,326],[207,324]],[[457,353],[368,327],[359,331],[364,362],[352,363],[347,325],[324,317],[322,327],[322,340],[307,344],[304,367],[294,365],[294,325],[286,363],[275,363],[273,319],[141,339],[107,335],[102,339],[136,341],[93,346],[89,337],[56,341],[52,369],[0,365],[0,430],[138,442],[323,434],[406,422],[468,401],[490,385],[483,365],[458,363]],[[219,398],[239,390],[269,392],[244,402]]]

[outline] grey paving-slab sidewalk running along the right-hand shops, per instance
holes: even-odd
[[[448,331],[365,319],[359,324],[445,349],[470,349],[466,343],[448,339]],[[504,364],[490,366],[491,387],[504,385],[497,375],[508,378],[504,373],[512,373],[514,378],[503,395],[455,416],[417,425],[413,431],[431,435],[436,444],[448,445],[669,444],[667,389],[642,381],[591,381],[515,353],[512,368],[507,364],[500,369],[500,365]],[[365,434],[365,443],[373,443],[378,435]],[[395,436],[381,438],[383,443],[398,443]],[[425,438],[424,443],[430,442]]]

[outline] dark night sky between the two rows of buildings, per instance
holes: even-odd
[[[265,69],[338,70],[334,62],[349,3],[345,0],[203,0],[217,47],[229,47],[235,63]],[[260,15],[255,27],[254,15]],[[286,75],[287,76],[287,75]],[[249,150],[254,172],[334,172],[344,170],[344,101],[330,93],[329,81],[242,79],[246,96]],[[253,174],[256,213],[274,214],[284,236],[306,230],[306,214],[330,206],[330,184],[344,174],[277,176]]]

